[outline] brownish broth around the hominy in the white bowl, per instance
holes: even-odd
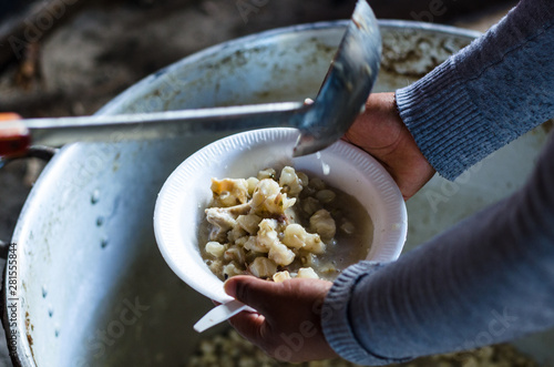
[[[275,173],[274,170],[271,171]],[[260,171],[260,173],[261,172],[265,173],[266,171]],[[298,176],[300,175],[302,175],[302,172],[298,172]],[[294,195],[294,197],[296,197],[296,203],[291,208],[286,211],[286,221],[290,221],[291,223],[301,225],[304,228],[307,228],[306,232],[311,235],[316,232],[314,230],[309,230],[310,217],[312,218],[312,215],[316,212],[324,210],[324,212],[327,211],[335,221],[336,233],[332,238],[325,238],[325,241],[322,241],[325,243],[324,253],[289,247],[288,249],[290,249],[295,254],[294,261],[286,265],[278,264],[276,271],[287,271],[290,275],[297,276],[299,274],[298,272],[301,268],[311,267],[319,278],[332,281],[340,274],[341,271],[343,271],[349,265],[356,264],[357,262],[367,258],[373,239],[373,224],[367,210],[356,197],[345,193],[339,188],[327,185],[324,180],[312,175],[311,173],[307,175],[306,172],[304,172],[302,177],[304,176],[309,180],[307,181],[309,183],[302,184],[301,191]],[[275,177],[273,180],[277,181],[277,179]],[[281,192],[288,188],[288,186],[281,186]],[[214,196],[214,201],[219,203],[220,198],[215,194]],[[287,201],[286,197],[285,201]],[[237,205],[234,207],[238,206],[239,203],[237,202]],[[212,207],[219,206],[215,205]],[[271,215],[269,215],[268,217],[271,217]],[[278,217],[279,221],[283,221],[283,215],[274,215],[273,217]],[[199,249],[206,265],[211,266],[212,271],[222,279],[237,274],[253,274],[252,258],[254,255],[252,255],[249,251],[246,252],[246,257],[250,256],[250,261],[248,263],[243,261],[244,263],[246,263],[246,265],[236,272],[234,271],[235,273],[226,273],[227,271],[225,271],[223,265],[216,263],[220,262],[220,258],[223,257],[214,258],[214,254],[206,251],[206,244],[211,242],[209,237],[212,230],[212,224],[209,224],[208,221],[204,218],[199,231]],[[278,239],[285,241],[286,238],[284,237],[285,231],[278,231]],[[324,239],[324,237],[321,237],[321,239]],[[225,244],[225,241],[222,241],[220,238],[215,243],[215,246],[219,247],[220,252],[226,252],[229,247],[229,245]],[[233,248],[236,245],[234,244],[230,245],[232,251],[234,252],[237,251],[236,248]],[[246,247],[244,246],[244,242],[239,247]],[[240,256],[242,259],[245,258],[244,255]],[[259,254],[259,256],[267,256],[267,254]],[[254,275],[257,275],[256,272],[254,272]],[[270,276],[259,277],[269,278]]]

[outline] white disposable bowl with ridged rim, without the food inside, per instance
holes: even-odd
[[[400,255],[408,220],[402,194],[389,173],[369,154],[342,141],[317,154],[287,157],[297,137],[295,129],[264,129],[222,139],[191,155],[162,187],[154,212],[160,251],[177,276],[206,297],[219,303],[233,299],[204,264],[198,247],[199,224],[212,200],[212,177],[247,179],[263,169],[285,165],[308,171],[367,208],[375,227],[368,259],[389,262]]]

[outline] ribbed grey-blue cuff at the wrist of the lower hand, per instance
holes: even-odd
[[[359,365],[381,366],[408,359],[390,359],[372,354],[356,338],[349,319],[349,299],[356,284],[388,264],[360,262],[349,266],[335,281],[327,294],[321,312],[321,326],[331,348],[342,358]]]

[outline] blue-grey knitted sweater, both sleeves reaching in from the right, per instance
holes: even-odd
[[[522,0],[398,90],[397,104],[447,179],[553,118],[554,1]],[[331,347],[351,361],[384,365],[554,327],[552,156],[554,140],[522,190],[399,261],[343,272],[321,314]]]

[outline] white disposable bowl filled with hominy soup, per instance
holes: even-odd
[[[408,228],[400,190],[362,150],[339,141],[293,157],[295,129],[254,130],[185,160],[163,185],[154,232],[170,267],[214,300],[223,282],[332,281],[359,261],[391,262]]]

